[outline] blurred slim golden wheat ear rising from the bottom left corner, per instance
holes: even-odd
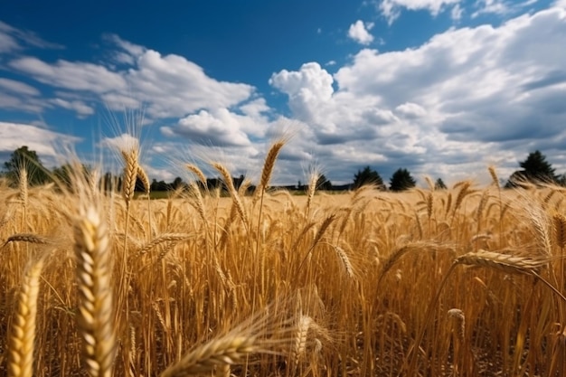
[[[35,341],[35,316],[39,295],[39,278],[42,273],[42,259],[35,261],[26,271],[24,282],[18,294],[17,312],[10,338],[8,375],[33,376],[33,346]]]

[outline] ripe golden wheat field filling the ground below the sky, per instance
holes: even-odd
[[[561,376],[561,187],[0,186],[0,374]],[[78,168],[77,172],[81,172]],[[311,182],[316,182],[316,176]]]

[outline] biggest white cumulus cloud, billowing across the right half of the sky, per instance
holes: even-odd
[[[566,10],[552,8],[499,27],[450,29],[402,52],[364,49],[334,76],[308,63],[270,82],[288,94],[312,137],[332,144],[324,152],[330,165],[464,177],[492,159],[505,162],[505,174],[537,147],[560,156],[565,40]],[[566,168],[559,158],[555,164]]]

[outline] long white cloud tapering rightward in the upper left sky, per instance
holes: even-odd
[[[0,38],[2,35],[7,34],[0,33]],[[214,80],[182,56],[162,55],[114,34],[105,35],[104,40],[112,46],[108,53],[114,65],[22,56],[9,61],[8,66],[53,88],[94,95],[113,110],[143,103],[151,118],[182,118],[200,109],[231,108],[250,99],[255,91],[248,84]],[[5,49],[13,48],[9,41]],[[0,85],[14,90],[15,84],[4,80]],[[22,90],[22,85],[19,88]],[[90,113],[81,106],[66,108],[74,109],[80,117]]]

